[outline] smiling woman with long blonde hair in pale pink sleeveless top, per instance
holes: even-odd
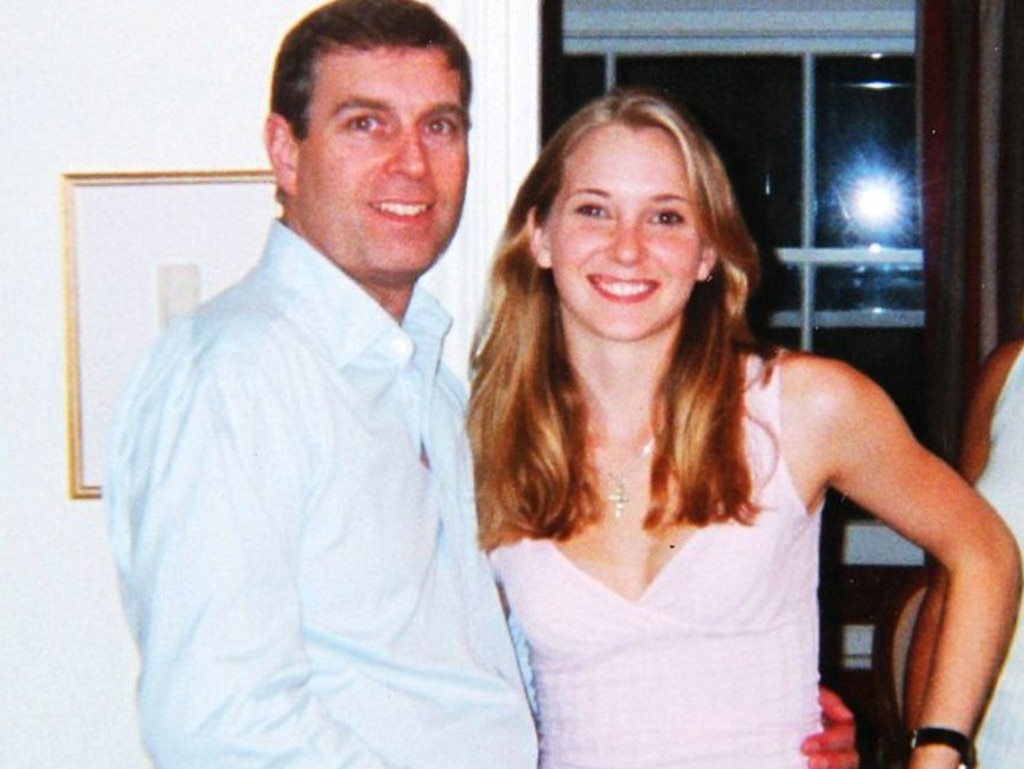
[[[981,711],[1010,535],[864,377],[754,339],[757,272],[718,156],[663,98],[585,108],[519,190],[469,425],[546,769],[803,767],[829,486],[949,567],[926,717],[970,733]]]

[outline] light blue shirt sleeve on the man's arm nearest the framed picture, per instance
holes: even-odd
[[[251,362],[178,358],[143,377],[115,431],[104,496],[158,767],[389,766],[309,685],[314,460],[288,389]]]

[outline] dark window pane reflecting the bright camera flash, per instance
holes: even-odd
[[[910,56],[815,59],[815,245],[916,248]]]

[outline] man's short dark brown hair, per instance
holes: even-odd
[[[309,130],[316,62],[342,46],[359,50],[436,48],[459,73],[459,97],[462,106],[469,109],[469,52],[433,8],[416,0],[335,0],[293,27],[278,51],[270,111],[288,121],[296,138],[304,139]]]

